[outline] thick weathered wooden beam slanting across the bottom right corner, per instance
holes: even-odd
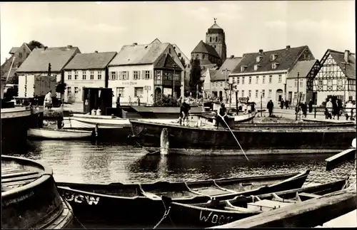
[[[356,189],[343,189],[212,228],[314,227],[356,209],[356,195]]]

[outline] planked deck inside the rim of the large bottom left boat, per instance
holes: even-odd
[[[1,192],[34,182],[44,171],[35,167],[24,167],[18,164],[1,163]]]

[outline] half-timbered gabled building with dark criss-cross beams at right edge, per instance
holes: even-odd
[[[328,49],[313,80],[314,97],[321,105],[328,95],[347,101],[356,100],[356,58],[350,51]]]

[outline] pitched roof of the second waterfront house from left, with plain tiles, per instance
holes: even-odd
[[[116,52],[77,53],[66,65],[65,70],[104,69],[116,56]]]

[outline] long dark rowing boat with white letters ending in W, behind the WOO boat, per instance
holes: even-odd
[[[147,184],[57,182],[57,186],[80,221],[121,224],[140,221],[154,226],[165,211],[161,196],[170,197],[174,202],[195,204],[208,202],[213,197],[232,199],[240,194],[277,192],[301,187],[308,173],[307,170],[291,174]]]

